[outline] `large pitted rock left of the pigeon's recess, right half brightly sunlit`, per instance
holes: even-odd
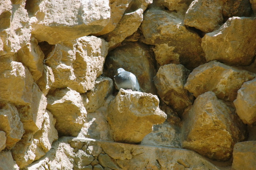
[[[57,44],[45,61],[54,74],[52,89],[70,87],[79,93],[92,90],[107,53],[108,43],[95,36]]]

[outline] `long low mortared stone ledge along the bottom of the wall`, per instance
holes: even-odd
[[[71,146],[73,142],[81,144],[81,147],[98,146],[103,151],[97,156],[98,165],[104,169],[217,169],[219,168],[207,161],[199,154],[186,149],[173,149],[167,147],[153,147],[144,145],[132,145],[125,143],[98,141],[86,138],[65,137],[59,139],[53,144],[52,149],[41,159],[25,167],[25,170],[36,169],[77,169],[74,163],[76,153],[82,153],[82,150],[75,151]],[[68,144],[70,143],[70,145]],[[77,145],[76,145],[77,146]],[[74,147],[76,147],[74,146]],[[75,153],[76,152],[76,153]],[[173,155],[176,155],[173,157]],[[56,156],[55,156],[56,155]],[[90,155],[90,154],[89,154]],[[150,155],[150,157],[148,156]],[[86,157],[84,157],[86,158]],[[91,160],[90,156],[80,161]],[[65,163],[65,164],[64,164]],[[65,166],[64,166],[65,165]],[[91,165],[87,165],[92,167]],[[84,166],[84,168],[87,168]],[[95,167],[95,166],[94,166]],[[153,168],[154,167],[154,168]]]

